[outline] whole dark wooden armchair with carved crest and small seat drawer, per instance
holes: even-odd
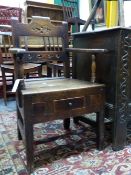
[[[12,20],[13,42],[17,48],[10,51],[15,60],[15,85],[17,100],[18,138],[23,139],[26,149],[27,169],[34,166],[34,149],[45,140],[35,140],[33,127],[37,123],[63,119],[64,129],[69,129],[70,117],[96,112],[97,146],[104,141],[104,85],[70,78],[68,52],[68,25],[54,26],[48,18],[33,17],[30,24]],[[20,48],[23,38],[35,42],[37,51]],[[72,49],[73,51],[74,49]],[[79,49],[78,49],[79,50]],[[85,49],[92,52],[91,49]],[[80,50],[80,52],[85,51]],[[99,50],[99,49],[98,49]],[[93,52],[98,52],[93,50]],[[64,62],[64,78],[24,78],[24,62]],[[55,136],[55,138],[59,138]],[[54,138],[46,141],[54,140]]]

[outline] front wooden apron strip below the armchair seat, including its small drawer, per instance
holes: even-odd
[[[102,94],[92,94],[74,98],[54,99],[45,102],[32,103],[34,116],[65,116],[81,115],[88,112],[100,111],[104,105]]]

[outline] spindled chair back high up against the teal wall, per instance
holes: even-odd
[[[62,0],[64,20],[79,17],[79,4],[77,0]]]

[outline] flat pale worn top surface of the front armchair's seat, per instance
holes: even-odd
[[[43,94],[57,91],[74,91],[76,90],[84,90],[96,87],[103,87],[103,84],[91,83],[88,81],[76,80],[71,78],[38,78],[34,79],[25,79],[25,90],[22,90],[23,95],[33,95],[33,94]],[[68,94],[69,96],[69,94]]]

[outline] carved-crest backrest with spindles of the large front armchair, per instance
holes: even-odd
[[[55,26],[49,18],[32,17],[29,24],[19,23],[12,19],[12,36],[15,48],[25,49],[18,51],[14,55],[16,78],[22,78],[18,69],[22,62],[48,62],[63,61],[65,63],[65,76],[69,76],[69,58],[65,52],[68,47],[68,25],[63,22],[60,26]],[[22,57],[22,62],[18,57]],[[22,69],[20,67],[20,69]],[[19,72],[19,73],[18,73]]]

